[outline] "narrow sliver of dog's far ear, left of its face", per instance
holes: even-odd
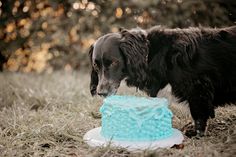
[[[93,67],[92,56],[93,56],[93,45],[89,49],[89,58],[92,66],[92,71],[90,76],[90,93],[92,96],[94,96],[97,94],[98,74]]]

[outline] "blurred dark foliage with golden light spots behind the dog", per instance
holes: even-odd
[[[223,27],[235,21],[233,0],[0,0],[0,68],[87,67],[88,47],[119,27]]]

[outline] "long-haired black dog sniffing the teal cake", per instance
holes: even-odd
[[[151,97],[170,84],[189,104],[188,136],[203,136],[215,107],[236,102],[236,26],[122,29],[97,39],[89,56],[92,95],[115,94],[123,79]]]

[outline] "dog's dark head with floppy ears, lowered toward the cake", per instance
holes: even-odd
[[[115,94],[120,82],[143,88],[146,80],[148,42],[141,29],[122,30],[100,37],[90,48],[92,95]]]

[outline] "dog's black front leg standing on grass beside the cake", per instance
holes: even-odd
[[[207,77],[191,80],[185,92],[190,107],[192,118],[195,122],[195,130],[186,132],[187,136],[203,136],[207,120],[214,117],[214,89]]]

